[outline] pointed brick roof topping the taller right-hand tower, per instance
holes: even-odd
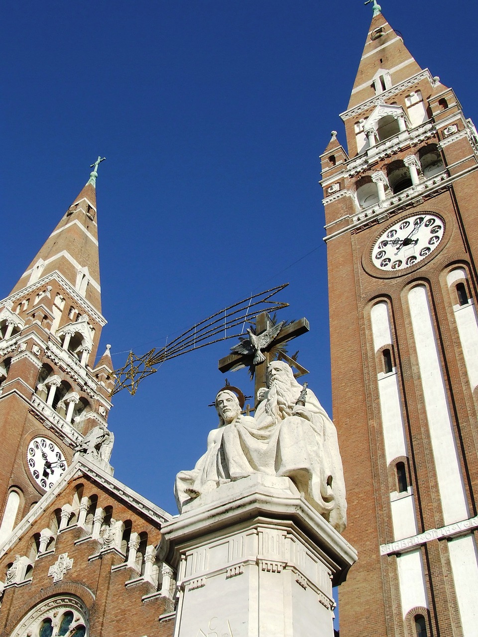
[[[347,110],[375,97],[373,80],[379,78],[380,71],[389,73],[392,85],[397,85],[421,70],[403,44],[402,35],[374,10]]]

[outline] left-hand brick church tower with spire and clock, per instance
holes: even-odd
[[[96,169],[0,301],[0,544],[111,407],[101,328]]]

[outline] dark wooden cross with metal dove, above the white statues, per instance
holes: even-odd
[[[266,331],[268,326],[268,320],[270,321],[270,317],[267,312],[262,312],[256,318],[256,334],[262,334]],[[292,340],[293,338],[297,338],[301,334],[305,334],[310,329],[307,318],[300,318],[300,320],[296,320],[289,325],[282,327],[279,334],[275,337],[275,339],[268,345],[268,347],[261,350],[264,354],[265,361],[256,365],[254,376],[256,379],[255,387],[254,387],[254,400],[256,400],[257,392],[261,387],[266,387],[266,371],[268,364],[272,361],[272,355],[270,354],[270,350],[276,345],[280,345],[280,343],[286,343],[287,341]],[[280,354],[279,359],[285,360],[291,366],[295,367],[299,371],[299,376],[303,374],[307,374],[307,369],[301,367],[294,359],[290,358],[286,354]],[[247,361],[247,362],[246,362]],[[222,373],[226,373],[229,369],[236,367],[239,364],[244,364],[247,366],[250,364],[250,357],[247,357],[245,354],[229,354],[225,356],[219,361],[218,367],[219,371]]]

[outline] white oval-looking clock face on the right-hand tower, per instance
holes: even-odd
[[[401,219],[376,241],[372,263],[388,272],[410,268],[437,249],[444,232],[444,220],[430,212]]]

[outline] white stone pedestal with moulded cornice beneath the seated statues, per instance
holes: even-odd
[[[162,530],[178,569],[175,637],[333,637],[332,586],[357,555],[289,478],[224,484]]]

